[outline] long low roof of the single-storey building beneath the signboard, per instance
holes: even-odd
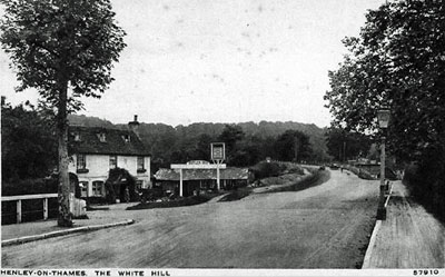
[[[247,180],[247,168],[220,169],[220,178],[224,180]],[[156,174],[157,180],[179,181],[179,169],[160,168]],[[182,180],[216,180],[216,169],[182,169]]]

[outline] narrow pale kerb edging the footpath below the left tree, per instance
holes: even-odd
[[[71,228],[71,229],[67,229],[67,230],[58,230],[58,231],[51,231],[51,233],[41,234],[41,235],[33,235],[33,236],[7,239],[7,240],[1,241],[1,246],[3,247],[3,246],[26,244],[26,243],[31,243],[31,241],[36,241],[36,240],[47,239],[47,238],[67,236],[67,235],[71,235],[75,233],[93,231],[93,230],[111,228],[111,227],[117,227],[117,226],[132,225],[132,224],[135,224],[135,220],[128,219],[126,221],[120,221],[120,222],[115,222],[115,224],[82,226],[82,227]]]

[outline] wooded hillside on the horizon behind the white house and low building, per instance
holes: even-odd
[[[70,125],[78,126],[127,128],[127,125],[112,125],[105,119],[77,115],[70,115],[69,121]],[[185,162],[190,159],[208,160],[209,144],[220,141],[222,139],[221,133],[227,129],[227,126],[234,127],[239,132],[238,135],[228,135],[238,136],[235,138],[236,145],[231,146],[233,149],[228,149],[231,154],[233,165],[249,166],[265,157],[279,159],[280,156],[276,149],[280,147],[276,145],[276,141],[279,136],[288,130],[295,130],[308,137],[310,151],[301,150],[301,154],[305,152],[306,155],[297,157],[297,159],[306,161],[329,159],[325,138],[326,129],[316,125],[291,121],[260,121],[258,123],[249,121],[236,125],[198,122],[172,127],[165,123],[141,122],[139,132],[152,155],[156,169],[157,167],[168,167],[170,162]]]

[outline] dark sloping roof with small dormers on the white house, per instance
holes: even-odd
[[[99,139],[100,133],[105,135],[103,142]],[[77,135],[79,141],[76,140]],[[126,138],[129,140],[126,141]],[[150,156],[142,141],[130,130],[70,126],[69,145],[75,154]]]

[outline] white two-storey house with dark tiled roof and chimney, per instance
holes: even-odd
[[[109,170],[117,167],[136,178],[136,189],[151,186],[150,155],[138,136],[137,116],[128,125],[128,130],[69,128],[73,152],[69,171],[78,176],[82,197],[106,197],[105,182]]]

